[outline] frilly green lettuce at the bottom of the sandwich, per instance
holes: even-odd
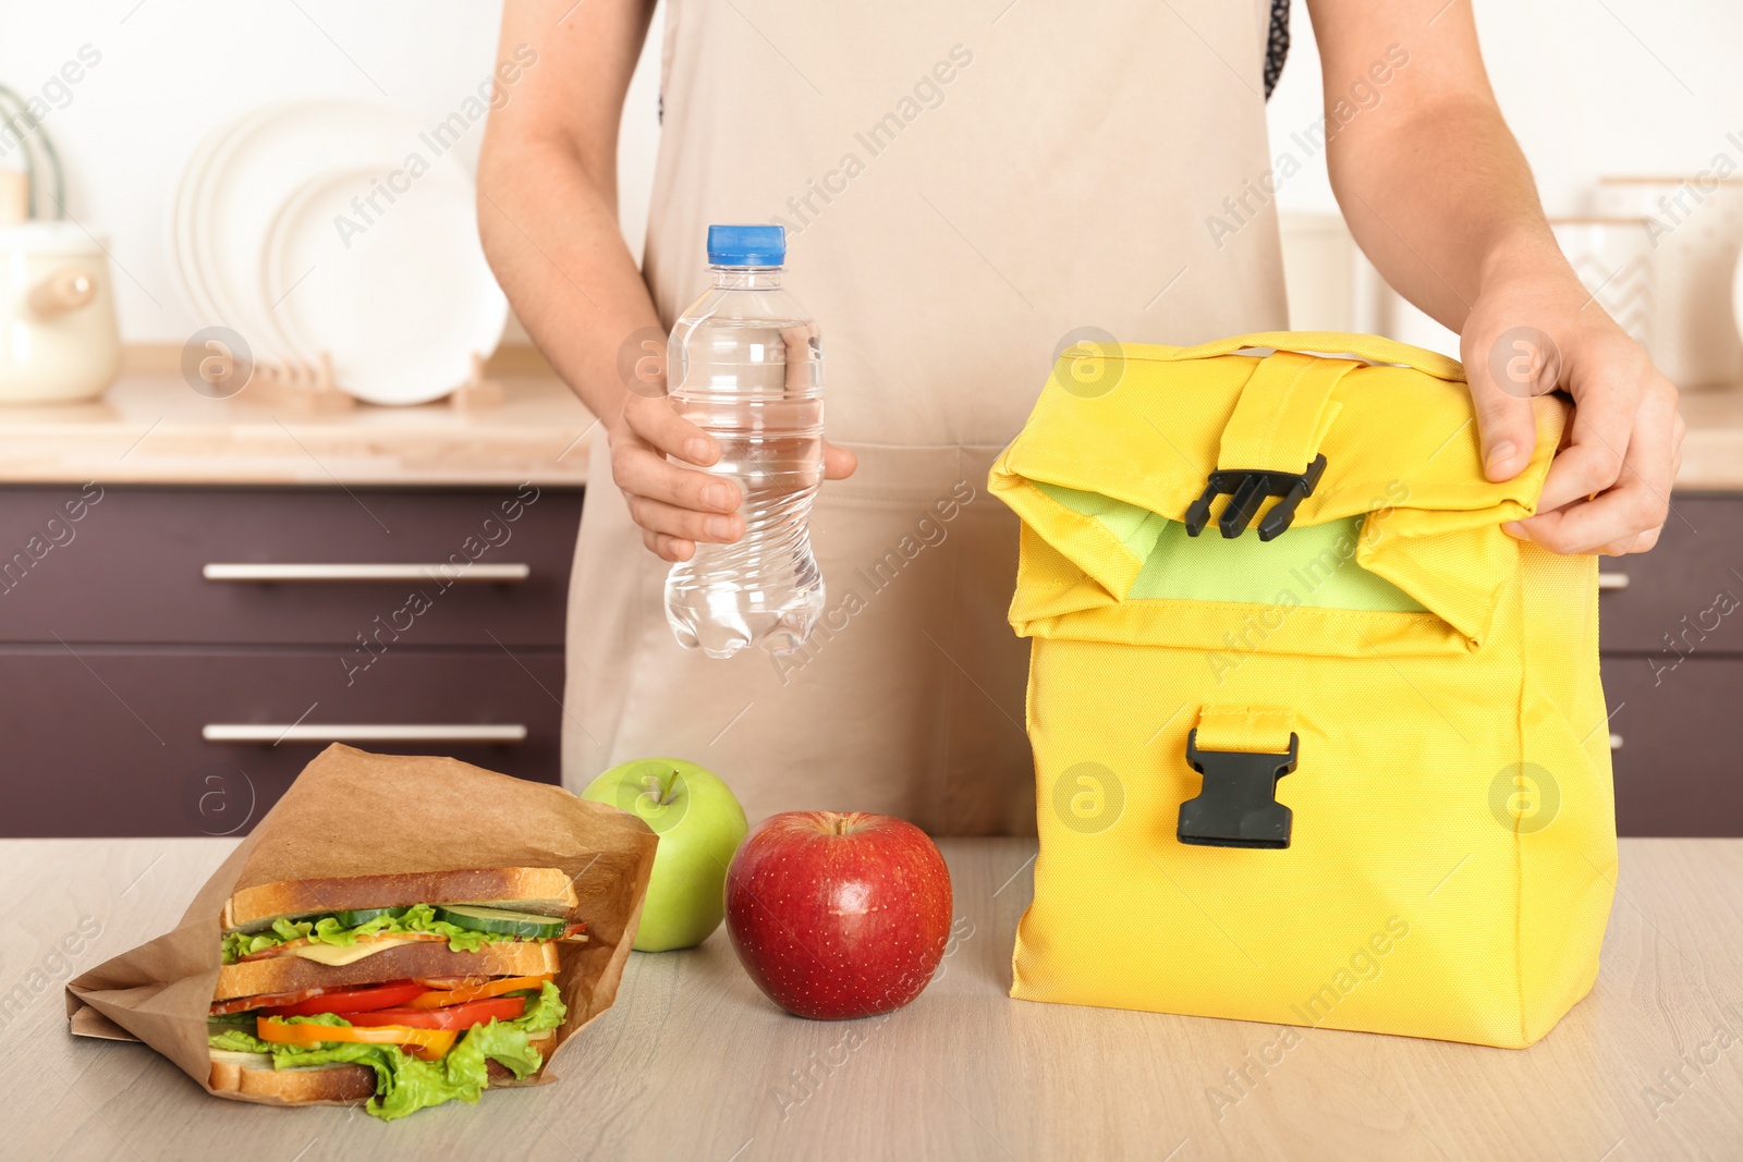
[[[467,1030],[441,1061],[418,1061],[397,1045],[356,1045],[321,1042],[317,1045],[281,1045],[246,1031],[239,1021],[207,1023],[207,1044],[235,1052],[267,1052],[275,1070],[315,1064],[366,1064],[375,1070],[375,1098],[366,1111],[392,1122],[444,1101],[474,1103],[490,1084],[490,1061],[500,1063],[516,1078],[525,1078],[544,1056],[533,1049],[530,1033],[544,1033],[563,1024],[568,1007],[556,984],[546,981],[537,995],[526,995],[526,1012],[512,1021],[490,1021]],[[322,1012],[309,1017],[284,1017],[288,1024],[349,1026],[350,1021]]]

